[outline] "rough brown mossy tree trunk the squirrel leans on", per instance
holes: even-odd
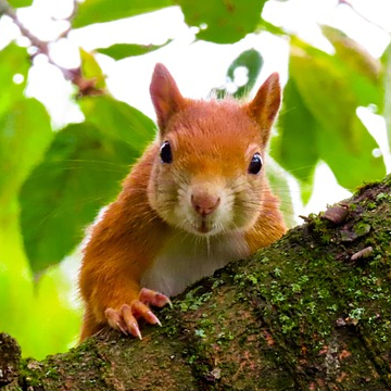
[[[391,390],[391,177],[160,311],[42,362],[0,340],[4,390]],[[7,343],[5,343],[5,342]]]

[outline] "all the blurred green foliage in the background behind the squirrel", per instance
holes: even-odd
[[[31,4],[0,1],[0,12],[11,17],[16,16],[7,11],[9,5]],[[390,50],[381,61],[374,59],[343,33],[323,26],[336,51],[328,54],[265,22],[265,2],[86,0],[70,16],[70,30],[177,4],[185,22],[197,27],[199,40],[232,43],[251,33],[282,34],[291,51],[278,135],[272,141],[275,161],[299,180],[303,200],[311,195],[319,161],[349,189],[380,179],[384,163],[374,157],[378,146],[356,109],[376,105],[382,112],[390,106],[384,88]],[[36,50],[50,52],[46,42],[29,38]],[[129,165],[154,137],[150,118],[110,94],[97,52],[121,60],[159,49],[123,42],[91,52],[80,49],[80,68],[62,72],[77,88],[73,99],[85,121],[58,131],[46,108],[25,96],[34,51],[16,43],[0,51],[0,329],[18,339],[25,355],[42,357],[75,341],[79,313],[68,293],[75,276],[61,261],[75,251],[85,227],[115,197]],[[236,85],[236,98],[250,92],[262,66],[263,56],[254,49],[232,59],[226,77]],[[241,85],[236,81],[239,68],[247,74]],[[217,96],[227,92],[227,87],[216,90]],[[277,164],[270,165],[269,176],[273,186],[287,188]],[[280,195],[291,214],[287,192]]]

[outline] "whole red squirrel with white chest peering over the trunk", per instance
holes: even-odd
[[[278,74],[245,104],[184,98],[162,64],[150,86],[159,131],[92,226],[79,275],[80,340],[110,326],[141,339],[152,306],[286,231],[264,171]]]

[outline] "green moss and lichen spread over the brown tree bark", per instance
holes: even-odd
[[[207,382],[207,389],[212,390],[216,381],[214,374],[220,371],[223,380],[231,379],[243,363],[240,361],[243,357],[232,356],[242,352],[236,346],[244,346],[245,354],[255,350],[248,360],[251,365],[262,355],[268,360],[267,365],[280,368],[282,375],[276,380],[283,384],[280,389],[306,389],[298,386],[302,373],[314,368],[320,373],[321,366],[336,370],[332,367],[336,361],[341,367],[345,365],[343,370],[350,375],[354,354],[358,358],[373,354],[374,377],[376,371],[389,370],[391,195],[390,189],[381,186],[378,193],[369,186],[361,189],[358,199],[346,203],[350,214],[340,226],[321,215],[311,215],[306,225],[263,249],[250,263],[229,266],[214,279],[189,289],[180,298],[182,300],[174,302],[174,308],[163,308],[163,331],[177,341],[178,351],[180,349],[184,361],[191,364],[200,382]],[[369,203],[364,191],[371,192]],[[376,207],[376,213],[365,211],[363,205]],[[345,232],[345,241],[342,232]],[[373,247],[368,257],[352,261],[353,254],[368,245]],[[230,283],[226,285],[227,281]],[[227,287],[232,291],[227,292]],[[218,311],[209,311],[206,315],[212,295],[214,305],[218,303]],[[242,312],[238,313],[238,308]],[[243,325],[249,327],[243,329]],[[270,345],[263,340],[263,331],[270,335]],[[154,349],[159,348],[159,341],[153,343]],[[80,363],[86,365],[87,374],[92,367],[96,373],[98,365],[103,380],[112,374],[108,363],[96,352],[94,343],[94,340],[87,340],[62,357],[68,365],[66,374],[76,373]],[[346,364],[338,358],[342,349],[354,352]],[[131,357],[133,351],[124,349],[123,354]],[[55,361],[24,363],[21,376],[26,389],[40,387],[45,377],[51,379],[52,389],[58,389],[60,371]],[[362,371],[365,375],[369,369],[366,366]],[[297,383],[292,383],[292,378]],[[86,376],[89,389],[98,388],[98,382],[103,380]]]

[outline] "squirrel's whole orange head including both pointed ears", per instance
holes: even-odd
[[[186,99],[162,64],[150,91],[159,125],[152,207],[171,226],[200,236],[249,228],[267,187],[264,159],[280,105],[278,74],[247,104]]]

